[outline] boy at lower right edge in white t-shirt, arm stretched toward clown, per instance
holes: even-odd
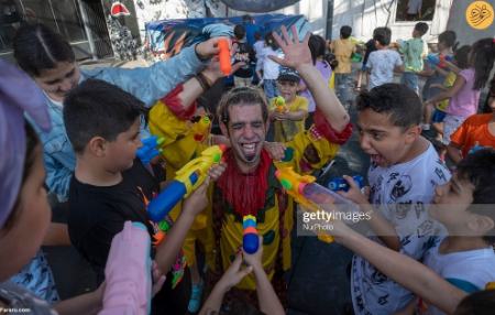
[[[458,165],[452,180],[437,187],[435,206],[429,211],[446,226],[449,235],[427,238],[426,267],[360,236],[341,222],[336,222],[332,232],[337,241],[383,272],[382,278],[389,276],[430,304],[426,313],[420,311],[420,314],[452,314],[469,293],[484,290],[487,283],[495,281],[494,183],[495,151],[484,149],[468,155]],[[359,193],[354,183],[352,186],[351,191]],[[459,305],[455,314],[488,314],[461,313],[460,308],[466,303]]]

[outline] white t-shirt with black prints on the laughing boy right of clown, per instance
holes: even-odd
[[[426,206],[433,198],[435,187],[450,180],[450,172],[433,145],[413,161],[369,170],[370,202],[380,205],[382,214],[395,227],[400,252],[416,260],[422,258],[426,243],[444,228],[429,218]],[[370,237],[382,243],[378,238]],[[389,280],[359,256],[352,260],[351,294],[354,313],[392,314],[404,308],[413,293]]]

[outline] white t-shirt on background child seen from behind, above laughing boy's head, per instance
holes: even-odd
[[[378,50],[370,54],[366,68],[370,69],[369,89],[394,82],[394,68],[402,66],[403,61],[396,51]]]

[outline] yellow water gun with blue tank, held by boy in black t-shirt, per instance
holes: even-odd
[[[224,145],[213,145],[177,171],[175,178],[147,205],[150,218],[160,222],[183,198],[187,198],[208,176],[208,170],[222,159]]]

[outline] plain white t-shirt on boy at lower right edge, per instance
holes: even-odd
[[[495,281],[493,248],[486,247],[442,254],[439,252],[439,247],[443,239],[436,238],[433,247],[427,251],[424,260],[424,263],[438,275],[468,293],[484,290],[486,283]],[[429,305],[425,314],[441,315],[444,313]]]

